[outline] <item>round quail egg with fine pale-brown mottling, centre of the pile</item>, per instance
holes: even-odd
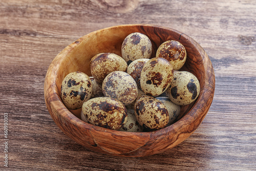
[[[133,77],[123,71],[114,71],[102,82],[102,92],[105,97],[112,97],[128,105],[138,96],[138,88]]]

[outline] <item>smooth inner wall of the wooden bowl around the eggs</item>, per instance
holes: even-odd
[[[112,29],[102,29],[100,31],[93,32],[91,34],[88,34],[86,38],[81,37],[80,39],[76,40],[70,47],[68,47],[68,52],[65,54],[64,58],[61,58],[60,61],[60,68],[57,70],[57,87],[58,92],[57,94],[60,95],[60,87],[61,82],[63,78],[68,75],[71,72],[74,71],[81,71],[86,73],[89,76],[92,76],[90,71],[90,59],[95,56],[98,53],[103,52],[109,52],[109,53],[115,53],[119,56],[121,55],[121,45],[124,40],[124,38],[134,32],[140,32],[145,35],[147,35],[152,42],[153,45],[153,51],[151,58],[156,56],[157,48],[167,40],[177,40],[180,41],[186,48],[187,51],[187,61],[185,65],[183,66],[181,71],[189,71],[197,76],[197,78],[200,81],[200,86],[203,86],[203,76],[201,76],[205,71],[204,68],[201,68],[201,72],[197,72],[198,66],[202,65],[200,64],[201,56],[198,55],[197,58],[194,58],[196,61],[190,60],[189,56],[191,53],[191,50],[193,53],[195,53],[195,47],[193,44],[190,44],[189,41],[184,41],[183,33],[179,32],[173,32],[173,34],[168,34],[169,30],[165,30],[164,28],[152,28],[152,27],[145,27],[144,29],[141,29],[140,27],[113,27]],[[176,34],[175,34],[176,33]],[[189,66],[191,65],[191,62],[196,62],[197,68],[191,68]],[[65,70],[62,70],[65,69]],[[194,102],[195,103],[195,102]],[[193,104],[181,106],[181,115],[178,119],[180,119],[184,114],[186,114]],[[78,118],[80,118],[80,110],[72,111],[74,115],[76,115]]]

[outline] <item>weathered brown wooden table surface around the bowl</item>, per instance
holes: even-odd
[[[44,81],[54,57],[85,34],[123,24],[179,30],[199,42],[215,69],[205,119],[161,154],[93,152],[62,133],[46,108]],[[256,170],[255,39],[253,0],[1,0],[0,170]]]

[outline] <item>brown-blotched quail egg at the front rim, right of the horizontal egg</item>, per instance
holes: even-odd
[[[141,96],[134,105],[135,116],[144,131],[155,131],[165,127],[169,121],[166,106],[151,96]]]

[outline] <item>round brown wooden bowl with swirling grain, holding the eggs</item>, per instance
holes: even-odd
[[[177,122],[154,132],[121,132],[80,120],[81,110],[69,111],[60,99],[62,79],[74,71],[81,71],[91,76],[90,59],[102,52],[121,56],[122,41],[133,32],[143,33],[151,39],[152,57],[155,57],[157,48],[162,42],[180,41],[187,51],[186,63],[182,70],[193,73],[199,79],[201,86],[199,97],[193,104],[182,107],[182,114]],[[154,25],[122,25],[84,35],[54,58],[45,79],[47,108],[54,122],[66,135],[93,151],[125,157],[161,153],[188,138],[206,116],[214,97],[214,90],[214,69],[203,48],[184,33]]]

